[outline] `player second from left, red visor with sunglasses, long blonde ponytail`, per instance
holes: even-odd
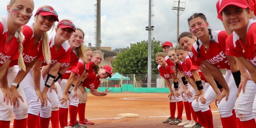
[[[54,14],[53,12],[50,12],[50,8],[52,7],[50,6],[40,7],[39,10],[42,10],[42,11],[36,12],[35,22],[33,24],[22,26],[21,31],[24,34],[24,38],[25,38],[23,42],[24,50],[23,50],[22,56],[23,56],[24,63],[26,65],[26,71],[19,71],[19,67],[14,66],[14,65],[17,65],[17,62],[18,62],[17,60],[13,60],[10,63],[10,68],[12,70],[9,70],[8,72],[9,73],[8,79],[11,81],[14,81],[12,85],[20,84],[20,86],[22,86],[20,87],[22,89],[22,92],[20,94],[23,96],[25,96],[26,94],[26,98],[28,99],[28,103],[29,103],[29,109],[28,109],[27,102],[26,102],[27,100],[25,99],[25,103],[22,103],[22,106],[19,107],[18,109],[18,112],[20,114],[19,119],[22,119],[22,120],[26,120],[26,117],[28,117],[28,121],[31,121],[31,117],[32,118],[38,117],[40,110],[38,111],[38,113],[36,113],[36,111],[34,110],[31,110],[31,107],[33,106],[32,104],[34,104],[34,102],[38,102],[38,100],[40,99],[41,104],[39,102],[38,106],[43,105],[40,87],[39,86],[35,87],[33,83],[32,67],[40,57],[44,57],[48,63],[50,63],[51,61],[47,32],[52,28],[54,22],[58,21],[58,17],[57,17],[57,13]],[[44,24],[45,26],[43,26],[42,24]],[[11,88],[15,90],[13,93],[14,97],[20,96],[19,92],[17,92],[19,88],[16,89],[15,86]],[[31,100],[33,98],[35,101]],[[35,113],[36,115],[33,115]],[[22,122],[24,123],[26,121],[22,121]],[[29,125],[28,126],[29,128],[35,126],[35,125],[30,126],[31,125],[30,123],[28,125]],[[22,127],[22,123],[20,123],[19,127]],[[24,127],[27,127],[27,126],[24,126]]]

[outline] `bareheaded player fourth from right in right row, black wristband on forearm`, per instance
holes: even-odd
[[[198,96],[200,97],[201,102],[196,100],[192,102],[192,108],[197,113],[199,123],[201,123],[203,127],[213,128],[212,112],[209,105],[214,101],[216,93],[205,79],[201,70],[199,70],[197,66],[192,65],[192,61],[189,58],[187,51],[179,45],[176,47],[175,53],[179,60],[183,62],[181,66],[183,67],[185,74],[189,76],[189,81],[196,84],[197,89],[199,90],[200,94],[198,94]],[[213,82],[213,86],[217,87],[215,82]],[[206,118],[208,119],[206,120]]]

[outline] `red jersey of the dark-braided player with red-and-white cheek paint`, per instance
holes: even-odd
[[[191,50],[194,54],[195,61],[208,61],[212,65],[217,65],[220,69],[229,69],[230,65],[226,58],[226,38],[228,37],[226,31],[215,30],[212,31],[214,42],[209,42],[209,49],[205,53],[205,47],[202,44],[201,40],[199,41],[199,46],[197,43],[194,43]],[[199,47],[200,56],[197,58],[197,48]]]

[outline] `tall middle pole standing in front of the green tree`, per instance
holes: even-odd
[[[149,0],[149,4],[148,4],[148,26],[146,27],[146,30],[148,31],[148,74],[147,74],[147,77],[148,77],[148,88],[151,87],[151,69],[152,69],[152,51],[151,51],[151,38],[152,38],[152,31],[154,30],[154,26],[152,26],[152,18],[154,15],[152,15],[152,7],[154,7],[154,5],[152,5],[153,3],[153,0]]]

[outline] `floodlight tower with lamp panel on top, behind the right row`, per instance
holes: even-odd
[[[173,1],[172,11],[177,15],[177,44],[178,44],[178,36],[179,36],[179,16],[185,10],[185,5],[186,5],[186,0]],[[177,10],[177,13],[174,10]],[[179,11],[182,11],[181,14],[179,14]]]

